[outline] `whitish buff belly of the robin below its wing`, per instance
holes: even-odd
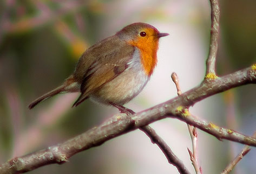
[[[90,99],[106,105],[124,105],[142,91],[148,80],[140,59],[134,58],[124,72],[91,94]]]

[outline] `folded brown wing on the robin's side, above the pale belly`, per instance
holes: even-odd
[[[92,54],[97,56],[97,59],[93,58],[94,61],[87,68],[86,72],[84,72],[81,82],[82,94],[73,106],[79,105],[96,89],[100,88],[104,83],[113,80],[128,67],[128,62],[134,53],[134,47],[119,40],[119,38],[103,41],[105,43],[102,43],[101,46],[91,49],[91,51],[94,50]],[[83,59],[86,59],[86,57]],[[77,65],[76,71],[80,71],[81,73],[82,71],[78,69],[79,66]]]

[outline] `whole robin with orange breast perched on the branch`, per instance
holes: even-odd
[[[59,93],[81,92],[73,107],[90,98],[130,112],[122,105],[147,84],[156,66],[159,38],[168,35],[145,23],[124,27],[89,47],[78,60],[74,73],[61,86],[33,101],[29,109]]]

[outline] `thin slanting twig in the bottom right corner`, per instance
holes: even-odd
[[[254,132],[253,138],[256,138],[256,131]],[[221,172],[221,174],[227,174],[231,172],[235,165],[251,150],[249,145],[245,145],[245,147],[241,150],[241,152],[226,166],[226,168]]]

